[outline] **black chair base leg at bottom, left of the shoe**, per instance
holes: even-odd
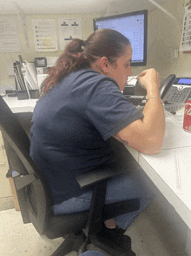
[[[56,252],[51,254],[51,256],[64,256],[73,251],[78,253],[85,239],[86,236],[82,231],[77,234],[71,233],[64,238],[63,243],[56,249]]]

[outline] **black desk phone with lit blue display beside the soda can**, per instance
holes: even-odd
[[[164,104],[186,102],[191,97],[191,77],[169,75],[161,84],[160,95]]]

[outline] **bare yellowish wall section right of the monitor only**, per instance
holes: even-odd
[[[172,63],[168,57],[170,48],[179,49],[181,44],[183,3],[183,0],[175,0],[173,4],[162,5],[176,17],[176,20],[157,8],[148,13],[148,64],[143,68],[155,68],[159,72],[161,80],[171,73],[175,73],[177,77],[191,77],[190,53],[179,52],[179,57],[174,58]],[[143,68],[133,67],[132,70],[137,75]]]

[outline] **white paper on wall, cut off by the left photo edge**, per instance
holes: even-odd
[[[18,19],[0,18],[0,52],[21,52]]]

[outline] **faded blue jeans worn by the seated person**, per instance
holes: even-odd
[[[53,205],[53,212],[56,214],[67,214],[89,210],[91,197],[92,192],[85,192],[79,197],[68,199],[59,205]],[[115,217],[116,225],[125,230],[150,205],[154,197],[154,194],[150,191],[148,192],[147,188],[142,185],[142,182],[135,177],[135,174],[127,173],[127,175],[122,175],[108,181],[105,204],[109,205],[128,199],[140,199],[141,206],[138,211],[124,213]]]

